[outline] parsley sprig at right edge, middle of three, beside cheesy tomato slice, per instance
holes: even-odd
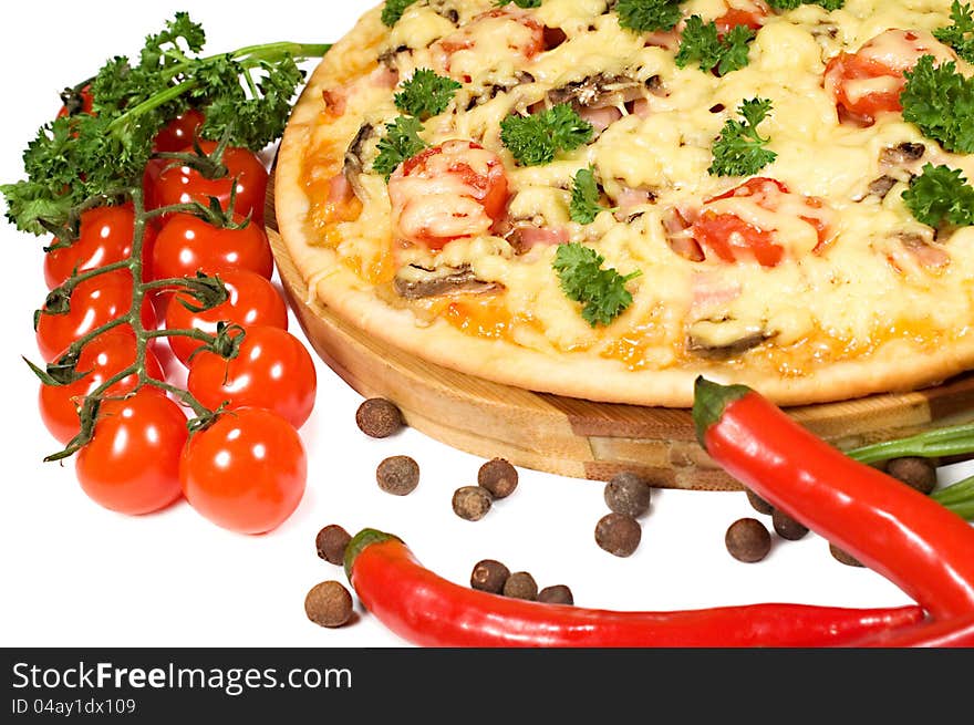
[[[974,79],[959,73],[953,61],[934,65],[932,55],[921,58],[903,76],[903,118],[946,151],[974,153]]]

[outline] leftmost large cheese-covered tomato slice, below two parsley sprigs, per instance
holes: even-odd
[[[470,141],[448,141],[406,159],[388,180],[400,239],[438,250],[486,235],[507,210],[508,180],[497,154]]]

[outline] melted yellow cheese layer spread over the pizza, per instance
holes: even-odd
[[[974,230],[946,231],[934,240],[905,208],[902,183],[884,197],[869,189],[890,170],[881,160],[884,151],[902,144],[922,144],[922,163],[947,164],[968,179],[974,179],[974,156],[945,153],[899,113],[880,114],[869,127],[840,123],[822,79],[832,58],[863,46],[871,60],[891,68],[909,68],[918,54],[930,52],[940,61],[957,62],[962,73],[972,75],[971,65],[930,35],[950,23],[950,0],[847,0],[843,9],[832,12],[814,4],[773,12],[750,44],[749,64],[724,77],[695,65],[677,68],[675,35],[622,29],[609,4],[545,0],[538,9],[508,6],[508,12],[498,14],[493,12],[494,0],[419,0],[385,31],[380,52],[400,81],[418,68],[431,68],[464,84],[446,112],[424,122],[424,141],[431,145],[473,141],[499,156],[509,180],[510,222],[557,227],[570,240],[597,248],[605,266],[620,273],[640,270],[641,276],[628,284],[631,308],[608,328],[591,328],[552,271],[555,248],[518,249],[512,237],[496,228],[491,234],[489,218],[481,219],[473,237],[452,241],[442,251],[397,244],[390,226],[393,208],[393,216],[412,214],[417,218],[407,219],[408,224],[428,226],[431,219],[422,217],[432,207],[404,211],[406,196],[414,199],[416,194],[397,196],[394,186],[387,188],[367,169],[361,175],[369,196],[361,215],[334,225],[330,241],[322,241],[354,260],[352,267],[365,270],[363,289],[376,279],[388,284],[390,256],[397,267],[468,266],[479,279],[502,286],[504,293],[491,297],[489,304],[501,310],[496,319],[505,321],[501,328],[509,340],[539,350],[616,358],[633,369],[692,361],[688,338],[695,324],[704,338],[709,334],[714,348],[733,342],[727,340],[731,329],[750,335],[761,332],[767,342],[735,353],[737,359],[769,365],[785,375],[807,374],[820,361],[868,354],[895,336],[936,345],[943,331],[957,336],[971,331]],[[701,14],[708,21],[728,7],[753,4],[692,0],[683,8],[685,15]],[[456,22],[447,11],[455,12]],[[549,50],[539,48],[543,34],[539,28],[561,31],[564,40]],[[904,32],[884,32],[891,29]],[[309,179],[340,170],[335,159],[342,158],[364,126],[376,130],[362,151],[374,157],[382,126],[400,115],[394,90],[376,85],[374,77],[370,81],[370,70],[361,69],[359,80],[341,90],[344,113],[324,117],[309,152]],[[631,79],[645,92],[635,105],[619,104],[621,117],[588,146],[561,153],[550,164],[517,166],[500,142],[501,121],[511,113],[550,105],[552,91],[600,74]],[[895,83],[889,76],[856,80],[848,95],[862,97]],[[743,100],[754,97],[771,101],[771,114],[760,133],[770,138],[768,147],[777,154],[759,174],[781,182],[791,194],[774,209],[748,198],[713,205],[774,230],[787,253],[775,267],[727,263],[716,256],[688,259],[671,246],[667,213],[700,209],[704,200],[742,183],[711,176],[707,168],[724,123],[737,117]],[[624,208],[616,214],[602,213],[593,224],[582,226],[569,219],[569,189],[573,175],[589,165],[610,206],[620,198],[635,199],[635,205],[620,205]],[[435,194],[457,193],[470,200],[469,194],[453,188],[455,182],[444,184]],[[422,194],[433,193],[424,189]],[[822,206],[810,208],[805,203],[808,197],[820,198]],[[817,226],[829,228],[829,241],[821,247]],[[926,241],[916,242],[918,235]],[[914,241],[906,244],[908,239]],[[924,245],[937,253],[922,253]],[[930,263],[931,259],[939,263]],[[376,265],[382,275],[367,273]],[[391,297],[386,293],[383,299]],[[414,304],[421,321],[428,314],[447,314],[444,305],[396,303]],[[421,308],[426,312],[421,313]],[[462,307],[449,309],[455,318],[460,314]],[[734,327],[722,328],[722,322]],[[489,328],[491,336],[500,329],[457,327],[470,334]]]

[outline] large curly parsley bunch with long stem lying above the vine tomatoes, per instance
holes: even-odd
[[[200,134],[252,151],[283,132],[303,80],[296,59],[330,45],[271,43],[200,58],[206,34],[185,12],[145,39],[138,62],[110,60],[90,81],[93,113],[45,124],[23,154],[27,178],[0,186],[22,231],[72,237],[76,207],[141,184],[159,130],[190,106]]]

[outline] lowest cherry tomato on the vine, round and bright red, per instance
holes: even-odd
[[[189,505],[239,534],[265,534],[283,524],[301,503],[307,478],[294,426],[256,407],[228,411],[195,433],[179,463]]]

